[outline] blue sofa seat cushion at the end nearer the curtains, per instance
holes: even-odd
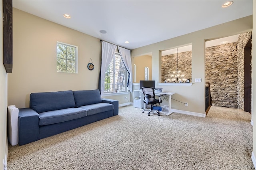
[[[96,103],[92,105],[81,106],[79,108],[85,109],[87,111],[87,116],[90,116],[97,113],[114,110],[114,105],[109,103]]]

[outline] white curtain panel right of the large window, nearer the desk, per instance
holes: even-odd
[[[124,62],[124,66],[126,67],[129,77],[128,77],[128,86],[127,89],[132,92],[132,59],[131,59],[131,51],[129,49],[125,49],[122,47],[118,47],[119,53]]]

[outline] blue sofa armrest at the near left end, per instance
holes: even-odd
[[[19,145],[39,139],[39,114],[30,108],[19,109]]]

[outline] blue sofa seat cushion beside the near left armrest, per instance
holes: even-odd
[[[48,111],[39,114],[39,125],[50,125],[86,116],[87,111],[81,108],[68,108],[56,111]]]

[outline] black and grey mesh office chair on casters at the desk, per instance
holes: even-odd
[[[162,103],[161,97],[163,95],[159,96],[159,99],[156,99],[155,97],[155,92],[154,92],[154,87],[142,87],[142,92],[144,95],[143,98],[143,102],[146,103],[147,105],[151,105],[150,109],[147,110],[143,110],[142,113],[144,113],[144,111],[148,111],[148,116],[150,116],[150,113],[157,113],[158,116],[160,116],[159,111],[155,111],[153,110],[153,105],[154,104],[160,104]]]

